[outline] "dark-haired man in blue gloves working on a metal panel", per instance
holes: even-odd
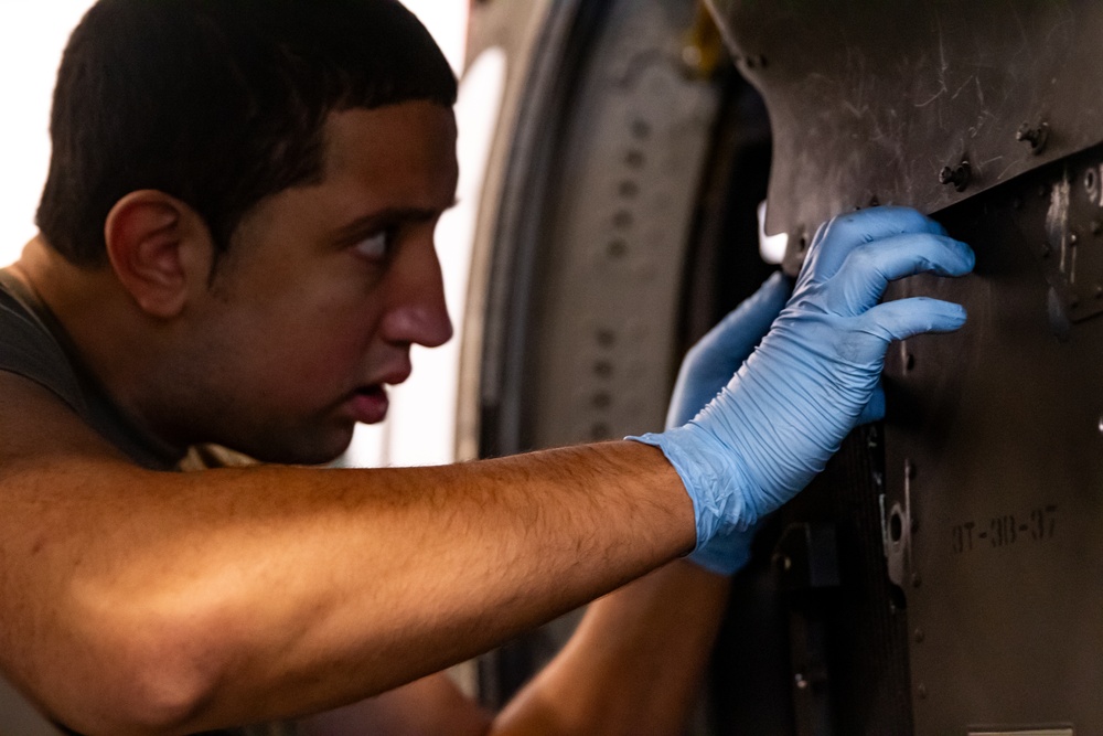
[[[101,0],[75,31],[41,236],[0,278],[0,669],[54,721],[185,734],[393,691],[357,728],[675,732],[722,608],[708,570],[877,414],[889,341],[964,322],[878,300],[968,248],[858,213],[733,377],[777,281],[690,356],[666,433],[303,467],[451,335],[454,94],[392,0]],[[210,445],[268,465],[176,472]],[[419,680],[656,569],[497,718]]]

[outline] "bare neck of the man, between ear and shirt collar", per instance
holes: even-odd
[[[161,441],[175,444],[158,431],[156,419],[153,377],[163,362],[160,331],[110,266],[75,266],[40,236],[26,244],[9,271],[53,312],[84,367],[116,407]]]

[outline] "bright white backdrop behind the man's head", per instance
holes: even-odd
[[[469,0],[404,0],[462,73]],[[90,0],[0,0],[0,266],[35,234],[34,211],[50,156],[50,98],[62,49]],[[454,407],[462,311],[478,192],[496,121],[504,62],[480,60],[461,89],[460,206],[438,230],[449,310],[457,338],[435,351],[415,350],[414,377],[393,392],[392,418],[364,427],[351,465],[427,465],[453,459]]]

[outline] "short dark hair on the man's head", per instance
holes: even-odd
[[[57,75],[36,222],[68,260],[100,265],[111,207],[153,189],[225,250],[258,202],[321,180],[331,113],[456,94],[396,0],[99,0]]]

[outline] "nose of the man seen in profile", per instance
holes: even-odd
[[[413,246],[413,244],[411,244]],[[445,301],[440,260],[430,239],[407,249],[393,268],[390,308],[383,319],[383,335],[397,343],[439,348],[452,339],[452,320]]]

